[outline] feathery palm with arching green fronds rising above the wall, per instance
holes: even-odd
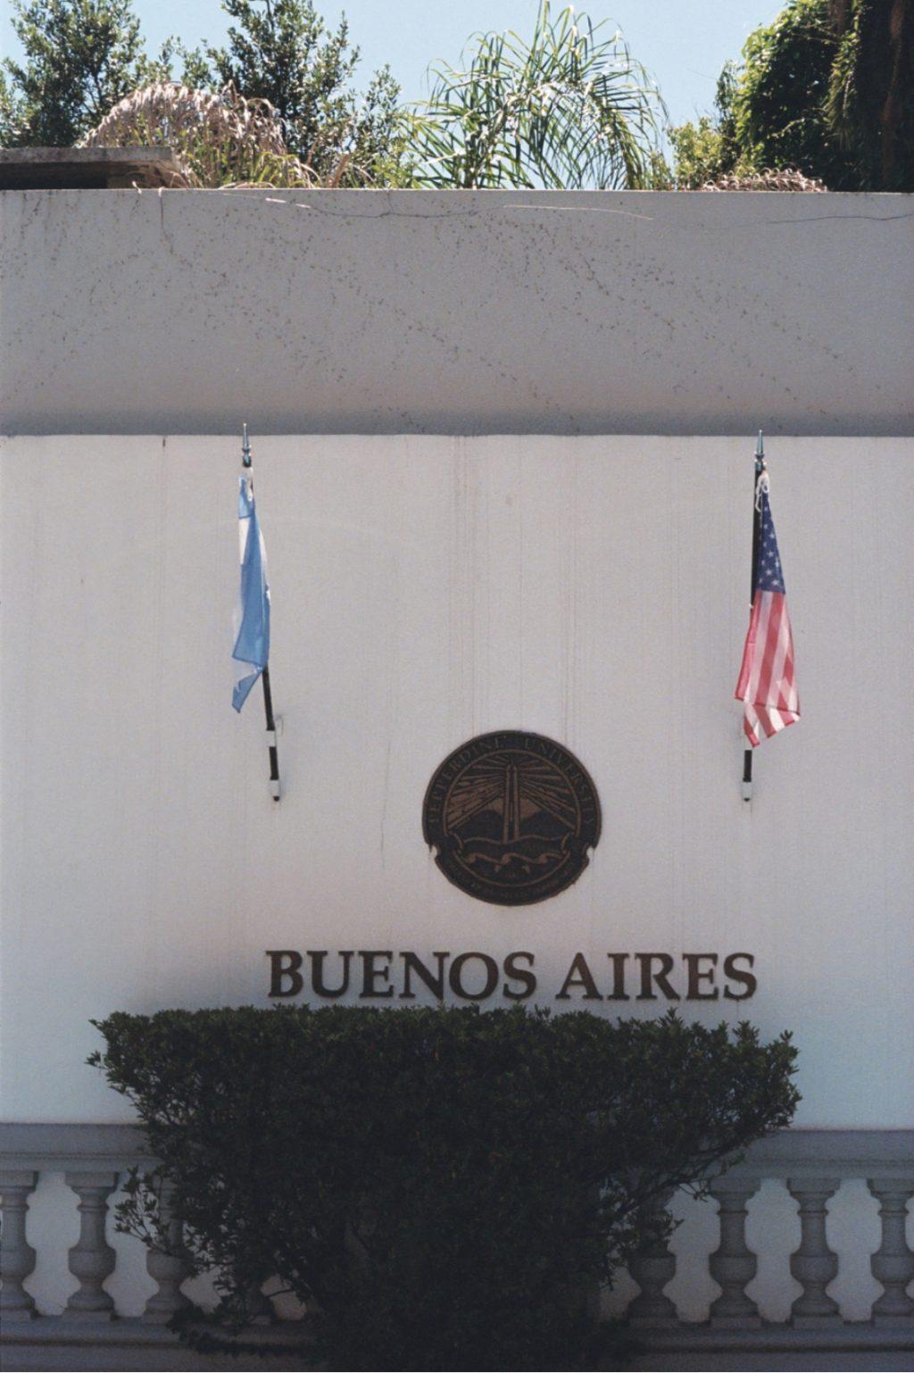
[[[541,0],[530,41],[471,40],[464,66],[432,69],[413,113],[416,178],[430,187],[638,188],[655,173],[663,104],[622,36]]]

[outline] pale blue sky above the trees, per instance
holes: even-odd
[[[479,29],[532,26],[538,0],[349,0],[321,4],[318,12],[335,23],[346,11],[353,40],[362,49],[362,76],[388,62],[401,82],[403,99],[425,95],[428,63],[445,58],[457,63],[468,36]],[[134,0],[147,45],[159,47],[170,33],[194,47],[203,38],[218,43],[225,36],[225,15],[218,0]],[[561,0],[553,0],[553,10]],[[622,29],[635,58],[660,86],[674,124],[710,111],[720,67],[736,58],[752,29],[769,23],[781,8],[778,0],[589,0],[576,5],[597,22],[607,19]],[[4,55],[15,51],[10,26],[10,0],[0,0],[0,36]]]

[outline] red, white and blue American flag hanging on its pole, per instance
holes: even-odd
[[[784,593],[784,573],[769,504],[769,474],[756,485],[758,557],[752,570],[752,614],[742,649],[736,697],[745,702],[742,728],[755,748],[800,718],[793,671],[793,634]]]

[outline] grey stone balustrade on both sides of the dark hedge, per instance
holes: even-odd
[[[156,1362],[156,1368],[181,1366],[180,1351],[167,1354],[176,1337],[163,1326],[189,1304],[181,1288],[191,1267],[181,1218],[174,1212],[167,1184],[161,1197],[166,1243],[162,1249],[147,1254],[147,1270],[156,1291],[143,1314],[113,1319],[115,1304],[106,1289],[115,1267],[115,1252],[107,1237],[108,1199],[129,1167],[148,1170],[154,1163],[141,1131],[132,1126],[0,1126],[3,1337],[16,1350],[26,1346],[32,1350],[22,1355],[32,1361],[30,1368],[44,1366],[36,1346],[45,1343],[58,1351],[67,1344],[71,1350],[85,1348],[89,1330],[97,1347],[130,1346],[133,1358],[139,1357],[136,1350],[140,1347],[154,1348],[156,1359],[177,1361]],[[70,1271],[78,1278],[78,1288],[63,1315],[37,1315],[27,1287],[36,1269],[36,1252],[27,1237],[27,1205],[41,1173],[62,1173],[78,1200],[80,1237],[69,1251]],[[803,1291],[789,1319],[781,1322],[762,1319],[747,1292],[758,1266],[758,1256],[747,1243],[747,1207],[767,1178],[788,1188],[800,1223],[800,1244],[789,1258],[789,1271]],[[870,1263],[882,1291],[869,1321],[843,1319],[829,1292],[839,1273],[839,1259],[828,1241],[829,1204],[841,1182],[849,1178],[867,1181],[881,1222],[881,1243]],[[677,1256],[666,1241],[648,1245],[631,1263],[631,1276],[641,1289],[629,1306],[633,1332],[648,1348],[670,1351],[670,1368],[675,1366],[677,1351],[682,1351],[683,1358],[690,1351],[694,1358],[696,1351],[703,1350],[914,1347],[914,1297],[909,1293],[914,1254],[904,1233],[907,1204],[914,1196],[914,1131],[782,1131],[753,1145],[744,1162],[712,1178],[710,1190],[718,1205],[719,1243],[707,1259],[707,1270],[720,1293],[711,1300],[707,1321],[688,1322],[678,1315],[667,1291],[677,1274]],[[253,1337],[270,1348],[281,1348],[294,1337],[296,1326],[284,1321],[270,1324],[270,1315],[272,1306],[261,1295]]]

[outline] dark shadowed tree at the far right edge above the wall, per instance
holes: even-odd
[[[914,191],[914,3],[830,0],[826,118],[862,185]]]

